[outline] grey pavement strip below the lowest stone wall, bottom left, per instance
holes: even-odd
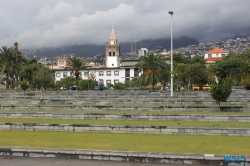
[[[184,166],[183,164],[117,162],[61,158],[31,158],[0,156],[1,166]],[[197,165],[196,165],[197,166]]]

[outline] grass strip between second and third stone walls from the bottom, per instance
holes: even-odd
[[[249,122],[199,122],[199,121],[140,121],[140,120],[84,120],[84,119],[35,119],[0,118],[4,123],[51,123],[51,124],[109,124],[148,126],[200,126],[200,127],[250,127]]]

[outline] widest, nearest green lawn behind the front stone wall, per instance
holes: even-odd
[[[250,155],[242,136],[0,131],[0,146]]]

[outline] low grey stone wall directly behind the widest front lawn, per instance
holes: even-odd
[[[0,123],[0,130],[250,136],[250,128]]]

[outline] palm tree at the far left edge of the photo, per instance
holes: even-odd
[[[9,89],[11,82],[15,80],[19,67],[15,61],[14,49],[6,46],[0,49],[0,71],[1,77],[5,77],[6,88]]]

